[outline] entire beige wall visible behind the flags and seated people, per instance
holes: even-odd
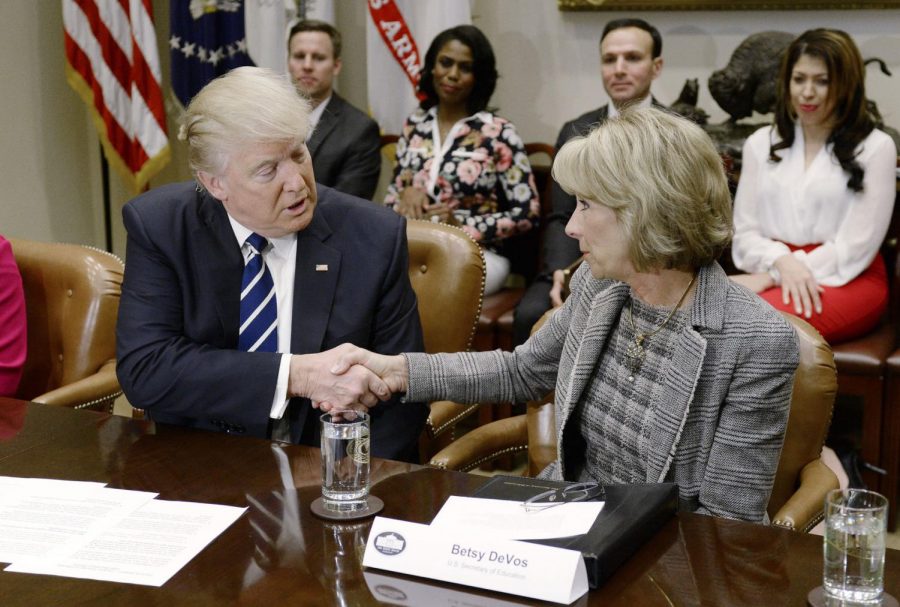
[[[337,25],[345,37],[340,90],[366,105],[365,19],[362,0],[341,0]],[[153,0],[164,76],[168,2]],[[473,0],[473,21],[490,37],[501,80],[493,103],[529,141],[552,142],[560,125],[605,102],[598,76],[597,37],[622,13],[559,12],[555,0]],[[889,124],[900,126],[900,11],[649,12],[664,38],[665,69],[654,91],[673,101],[686,78],[700,78],[700,105],[714,122],[724,113],[709,96],[709,74],[727,63],[747,35],[766,29],[799,33],[841,27],[866,57],[885,59],[896,76],[869,68],[869,96]],[[0,233],[45,241],[104,246],[99,144],[84,104],[65,81],[58,0],[0,2]],[[167,94],[167,99],[168,99]],[[171,104],[170,104],[171,106]],[[169,132],[177,111],[169,107]],[[188,178],[183,146],[153,184]],[[130,197],[114,174],[114,250],[124,253],[120,209]]]

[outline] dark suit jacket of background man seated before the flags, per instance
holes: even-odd
[[[316,182],[371,200],[381,174],[378,124],[337,93],[307,142]]]

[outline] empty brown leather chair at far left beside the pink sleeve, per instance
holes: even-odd
[[[122,261],[82,245],[10,238],[25,289],[28,356],[17,398],[111,410]]]

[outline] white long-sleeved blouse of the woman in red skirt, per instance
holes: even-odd
[[[744,143],[741,180],[734,201],[734,264],[744,272],[768,272],[789,253],[787,245],[820,244],[810,253],[795,251],[819,284],[839,287],[865,270],[887,233],[896,196],[897,149],[883,131],[873,130],[858,148],[865,171],[863,191],[847,188],[849,174],[826,145],[805,167],[803,130],[794,144],[776,152],[773,126]]]

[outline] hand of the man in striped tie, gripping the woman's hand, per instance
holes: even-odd
[[[388,400],[391,388],[369,369],[357,365],[340,374],[332,372],[342,356],[354,350],[358,348],[344,344],[327,352],[291,356],[288,397],[308,398],[314,406],[324,402],[340,410],[359,411]]]

